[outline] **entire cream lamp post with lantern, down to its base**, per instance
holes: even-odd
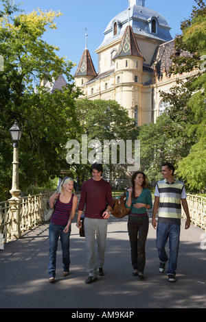
[[[12,235],[16,238],[21,237],[21,190],[19,190],[19,141],[21,140],[22,129],[15,122],[10,128],[10,134],[13,141],[14,156],[13,156],[13,175],[12,175],[12,190],[10,194],[12,198],[10,203],[10,221],[12,222]]]

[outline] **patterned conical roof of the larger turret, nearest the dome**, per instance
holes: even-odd
[[[130,55],[144,58],[139,51],[133,29],[128,25],[125,29],[124,35],[122,37],[122,42],[119,45],[119,49],[113,60],[115,60],[117,57]]]

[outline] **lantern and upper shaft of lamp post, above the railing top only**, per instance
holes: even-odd
[[[19,199],[21,194],[21,190],[19,190],[19,141],[21,140],[22,129],[16,121],[10,128],[10,134],[14,147],[12,190],[10,190],[10,194],[12,199]]]

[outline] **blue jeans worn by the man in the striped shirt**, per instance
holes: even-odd
[[[179,253],[180,224],[176,223],[158,223],[157,225],[157,251],[159,260],[165,264],[168,262],[168,255],[165,251],[165,245],[169,238],[170,258],[168,266],[168,275],[176,275],[176,264]]]

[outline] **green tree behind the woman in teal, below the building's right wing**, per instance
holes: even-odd
[[[161,179],[161,164],[172,162],[177,167],[179,160],[187,156],[190,145],[182,133],[181,124],[172,121],[163,113],[156,123],[141,125],[138,139],[141,142],[141,169],[150,182]]]

